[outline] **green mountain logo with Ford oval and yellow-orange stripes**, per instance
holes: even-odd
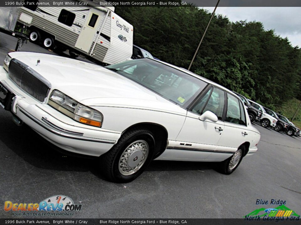
[[[285,205],[282,206],[278,206],[275,208],[259,208],[259,209],[255,209],[253,212],[250,212],[249,214],[247,214],[246,216],[260,216],[260,217],[264,217],[264,216],[273,216],[273,217],[289,217],[289,216],[295,216],[298,217],[299,215],[289,209],[288,207],[286,207]]]

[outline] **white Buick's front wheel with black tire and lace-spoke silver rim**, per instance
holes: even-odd
[[[133,129],[100,157],[101,168],[108,180],[126,183],[143,173],[154,156],[155,139],[147,129]]]

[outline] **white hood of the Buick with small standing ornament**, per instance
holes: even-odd
[[[86,105],[147,107],[186,114],[187,110],[102,66],[65,57],[28,52],[9,54],[57,89]],[[40,60],[37,65],[37,60]]]

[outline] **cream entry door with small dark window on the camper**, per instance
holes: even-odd
[[[90,8],[87,19],[82,26],[81,33],[75,43],[76,48],[79,48],[86,53],[89,52],[103,14],[102,11]]]

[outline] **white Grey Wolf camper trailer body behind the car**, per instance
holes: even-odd
[[[49,0],[50,1],[50,0]],[[114,13],[114,7],[72,0],[82,7],[21,7],[18,22],[37,30],[41,41],[51,37],[69,52],[105,64],[129,60],[133,51],[133,26]],[[100,4],[98,4],[100,5]]]

